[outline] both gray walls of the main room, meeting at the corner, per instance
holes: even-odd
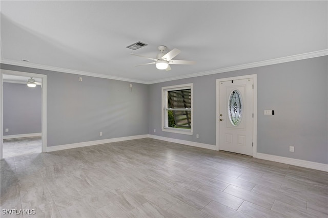
[[[2,64],[48,75],[48,146],[141,134],[215,145],[216,79],[257,74],[257,152],[328,164],[328,57],[151,85]],[[161,131],[161,87],[193,83],[194,135]],[[275,110],[264,116],[263,110]],[[153,129],[156,129],[156,133]],[[102,131],[104,136],[99,137]],[[196,139],[199,134],[199,139]],[[289,146],[295,152],[289,152]]]

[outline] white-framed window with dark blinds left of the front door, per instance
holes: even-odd
[[[162,130],[192,135],[193,84],[162,88]]]

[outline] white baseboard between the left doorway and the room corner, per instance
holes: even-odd
[[[78,148],[78,147],[85,147],[85,146],[93,146],[93,145],[99,145],[99,144],[107,144],[107,143],[111,143],[111,142],[127,141],[127,140],[133,140],[133,139],[144,139],[147,137],[148,137],[148,135],[127,136],[127,137],[102,139],[102,140],[89,141],[89,142],[72,143],[72,144],[66,144],[66,145],[49,146],[49,147],[47,147],[47,152],[56,151],[56,150],[65,150],[65,149],[71,149],[71,148]]]

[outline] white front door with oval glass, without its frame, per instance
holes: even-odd
[[[253,156],[253,78],[218,86],[219,150]]]

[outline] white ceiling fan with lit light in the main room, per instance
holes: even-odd
[[[148,65],[148,64],[156,64],[157,69],[169,71],[169,70],[171,70],[171,67],[169,64],[195,64],[196,63],[195,61],[190,61],[190,60],[172,60],[175,56],[180,54],[181,51],[178,49],[173,49],[165,54],[165,53],[163,53],[163,51],[165,51],[166,49],[167,49],[166,46],[158,46],[158,50],[160,51],[160,53],[157,54],[157,58],[145,57],[145,56],[133,54],[133,53],[131,53],[131,54],[138,56],[138,57],[144,57],[144,58],[155,61],[155,62],[151,62],[151,63],[140,64],[140,65],[137,65],[136,67]]]

